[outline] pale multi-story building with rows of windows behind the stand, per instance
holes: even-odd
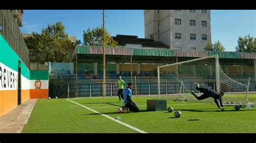
[[[210,10],[144,10],[145,38],[170,49],[204,51],[211,41]]]

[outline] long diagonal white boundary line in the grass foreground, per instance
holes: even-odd
[[[116,121],[117,123],[119,123],[119,124],[121,124],[121,125],[124,125],[124,126],[126,126],[126,127],[129,127],[129,128],[131,128],[132,130],[134,130],[134,131],[137,131],[137,132],[139,132],[139,133],[147,133],[147,132],[142,131],[142,130],[139,130],[138,128],[133,127],[133,126],[131,126],[131,125],[129,125],[129,124],[123,123],[122,121],[119,121],[119,120],[116,120],[116,119],[114,119],[114,118],[112,118],[112,117],[110,117],[110,116],[107,116],[107,115],[105,115],[105,114],[103,114],[103,113],[100,113],[100,112],[98,112],[98,111],[95,111],[95,110],[92,110],[92,109],[90,109],[90,108],[87,108],[87,107],[84,106],[84,105],[81,105],[81,104],[79,104],[79,103],[73,102],[73,101],[71,101],[71,100],[69,100],[69,99],[66,99],[66,100],[67,100],[67,101],[70,101],[70,102],[72,102],[72,103],[75,103],[75,104],[77,104],[77,105],[80,105],[80,106],[82,106],[83,108],[85,108],[85,109],[87,109],[87,110],[90,110],[90,111],[92,111],[92,112],[98,113],[99,115],[102,115],[102,116],[104,116],[104,117],[106,117],[106,118],[108,118],[108,119],[111,119],[111,120],[113,120],[113,121]]]

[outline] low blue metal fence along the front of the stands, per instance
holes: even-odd
[[[246,83],[243,83],[246,84]],[[160,95],[189,93],[192,90],[196,91],[193,83],[184,83],[186,88],[180,88],[181,84],[177,82],[161,82]],[[250,90],[255,91],[255,82],[251,82]],[[76,91],[77,86],[77,91]],[[207,87],[206,84],[200,84],[201,87]],[[244,87],[241,87],[244,90]],[[77,92],[77,95],[76,95]],[[116,83],[106,83],[106,96],[117,96],[118,85]],[[245,90],[243,91],[245,92]],[[135,84],[133,83],[132,89],[135,95]],[[103,83],[62,83],[55,82],[49,84],[49,96],[58,98],[74,98],[74,97],[99,97],[103,95]],[[158,95],[157,82],[138,82],[137,95]]]

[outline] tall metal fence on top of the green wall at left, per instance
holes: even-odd
[[[29,67],[29,49],[26,47],[16,18],[14,18],[11,10],[0,10],[0,34],[22,59],[26,67]]]

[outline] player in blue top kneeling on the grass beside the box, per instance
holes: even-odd
[[[129,111],[132,112],[139,112],[139,108],[136,105],[136,103],[134,103],[132,101],[132,83],[128,83],[128,87],[126,89],[124,89],[124,106],[123,109],[129,109]]]

